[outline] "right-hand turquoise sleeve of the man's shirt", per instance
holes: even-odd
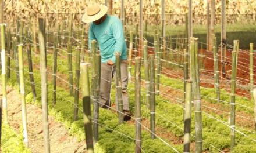
[[[112,32],[113,32],[113,37],[116,41],[116,44],[114,47],[115,50],[111,57],[111,61],[113,63],[116,63],[116,54],[115,53],[120,52],[122,54],[123,45],[125,43],[125,38],[123,36],[123,25],[120,20],[118,20],[112,24]]]

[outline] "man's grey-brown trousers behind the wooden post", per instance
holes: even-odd
[[[102,108],[111,107],[111,83],[116,74],[116,65],[108,65],[107,63],[101,63],[101,89],[100,89],[100,103]],[[127,60],[121,61],[121,79],[122,79],[122,99],[123,110],[129,111],[129,97],[127,93],[128,85],[128,70]],[[116,96],[117,101],[117,96]]]

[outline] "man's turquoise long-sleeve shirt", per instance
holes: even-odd
[[[123,25],[115,16],[107,16],[101,24],[90,24],[88,44],[91,50],[91,41],[96,40],[101,50],[101,62],[109,60],[116,62],[115,53],[121,53],[121,60],[127,59],[127,47],[123,36]]]

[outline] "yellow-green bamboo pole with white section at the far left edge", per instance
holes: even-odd
[[[6,97],[6,65],[5,65],[5,27],[1,23],[1,65],[2,65],[2,112],[3,123],[8,124],[7,97]]]

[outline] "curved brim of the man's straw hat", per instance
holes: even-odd
[[[93,21],[101,19],[101,17],[104,16],[108,12],[108,7],[106,7],[105,5],[100,5],[99,8],[101,8],[99,13],[97,13],[97,14],[95,14],[93,16],[88,16],[87,13],[84,13],[83,17],[82,17],[82,21],[84,23],[91,23]]]

